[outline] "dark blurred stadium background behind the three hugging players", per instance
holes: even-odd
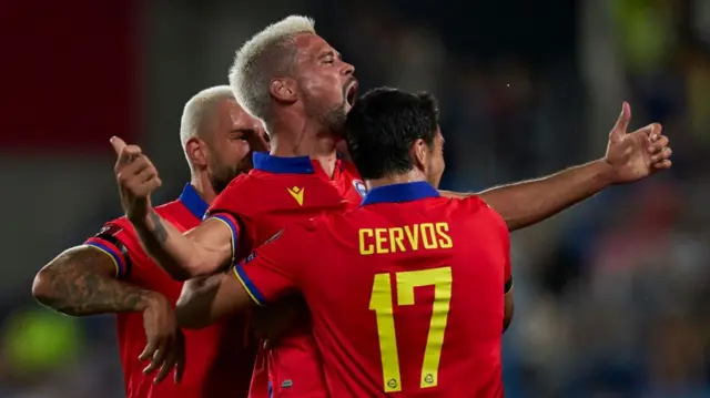
[[[189,171],[184,102],[290,13],[365,88],[438,95],[444,187],[474,191],[604,154],[631,102],[670,173],[514,234],[507,397],[710,397],[710,1],[0,1],[0,397],[122,397],[113,317],[37,305],[36,272],[120,215],[108,139],[143,145],[161,200]]]

